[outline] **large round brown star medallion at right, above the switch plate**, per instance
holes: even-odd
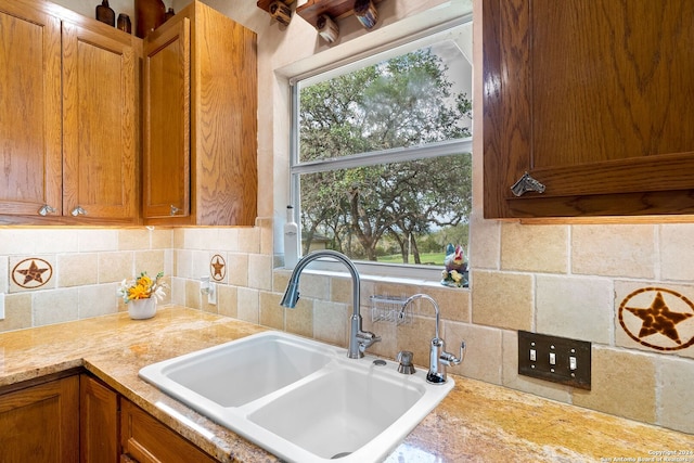
[[[694,345],[694,303],[665,287],[642,287],[624,298],[619,324],[637,343],[656,350]]]

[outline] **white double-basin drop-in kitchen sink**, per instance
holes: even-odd
[[[147,365],[140,376],[291,462],[378,462],[453,381],[284,332],[264,332]]]

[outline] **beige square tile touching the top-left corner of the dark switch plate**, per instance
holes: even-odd
[[[532,276],[473,271],[473,322],[511,330],[532,326]]]

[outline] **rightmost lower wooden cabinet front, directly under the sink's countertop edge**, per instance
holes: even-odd
[[[215,462],[197,447],[126,399],[121,399],[120,443],[124,454],[140,463]]]

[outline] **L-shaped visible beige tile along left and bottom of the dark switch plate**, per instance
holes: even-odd
[[[502,385],[512,389],[547,397],[560,402],[570,402],[570,388],[557,383],[537,380],[535,377],[518,374],[518,333],[503,331],[503,372]]]

